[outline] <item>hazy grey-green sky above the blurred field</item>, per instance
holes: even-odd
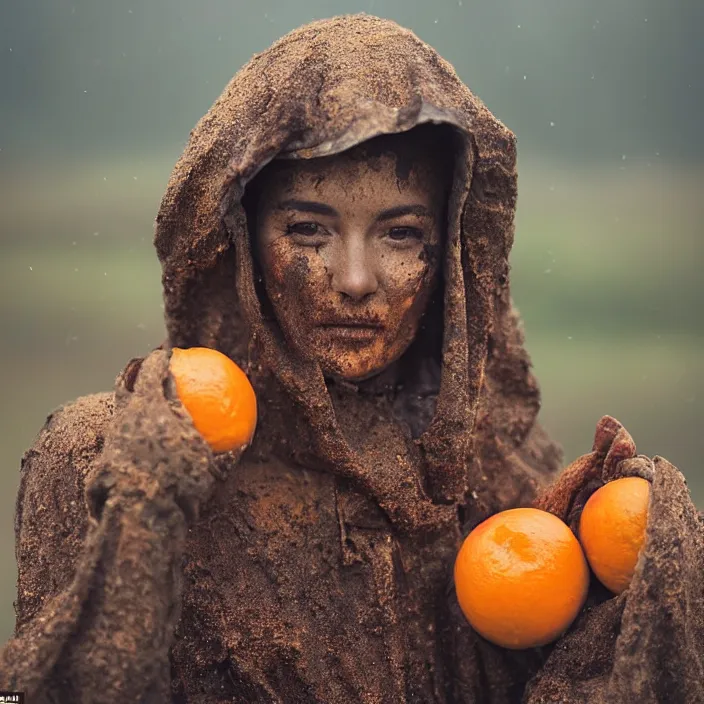
[[[314,18],[413,29],[556,159],[704,156],[701,0],[1,0],[0,167],[178,149],[232,75]]]

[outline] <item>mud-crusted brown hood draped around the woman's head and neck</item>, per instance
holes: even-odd
[[[434,123],[454,130],[444,261],[441,373],[432,420],[407,462],[371,467],[347,441],[317,364],[295,355],[262,313],[241,199],[274,158],[334,154]],[[411,31],[368,15],[297,29],[255,55],[192,131],[156,220],[168,342],[235,359],[265,394],[272,376],[310,429],[308,451],[354,482],[402,528],[506,507],[559,463],[535,420],[536,380],[509,292],[516,143]],[[267,402],[260,395],[260,405]],[[531,438],[537,438],[533,441]],[[473,497],[473,498],[472,498]]]

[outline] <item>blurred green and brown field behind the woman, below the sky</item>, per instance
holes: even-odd
[[[44,417],[109,389],[163,337],[152,220],[173,155],[0,173],[0,641],[11,634],[19,461]],[[603,414],[682,469],[704,505],[704,173],[521,171],[514,299],[570,460]]]

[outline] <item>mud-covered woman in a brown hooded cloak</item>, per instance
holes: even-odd
[[[515,159],[392,22],[317,22],[240,71],[157,217],[164,349],[25,456],[0,685],[93,704],[702,700],[702,526],[677,470],[608,417],[538,503],[570,520],[601,480],[651,479],[631,588],[527,653],[457,611],[463,532],[560,462],[509,294]],[[213,457],[175,397],[168,350],[196,345],[256,389],[242,456]]]

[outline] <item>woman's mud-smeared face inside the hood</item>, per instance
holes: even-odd
[[[382,371],[413,341],[445,220],[447,178],[428,149],[398,156],[373,144],[276,162],[256,216],[264,284],[288,343],[350,381]]]

